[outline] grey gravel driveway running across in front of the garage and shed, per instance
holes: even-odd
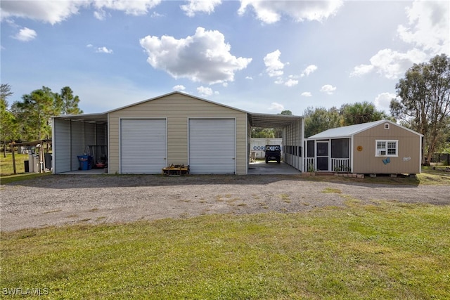
[[[311,181],[301,175],[53,175],[1,185],[1,231],[202,214],[310,211],[348,199],[450,204],[449,185]]]

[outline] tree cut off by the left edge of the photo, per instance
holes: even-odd
[[[9,84],[0,85],[0,139],[3,143],[4,157],[6,157],[6,143],[13,141],[15,132],[15,118],[8,110],[8,97],[13,96]]]

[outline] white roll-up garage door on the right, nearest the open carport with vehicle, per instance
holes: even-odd
[[[235,119],[189,119],[192,174],[236,173]]]

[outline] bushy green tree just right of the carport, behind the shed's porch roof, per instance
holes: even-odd
[[[325,107],[307,107],[303,113],[304,116],[304,136],[314,136],[314,134],[326,129],[341,126],[341,117],[336,107],[326,109]]]

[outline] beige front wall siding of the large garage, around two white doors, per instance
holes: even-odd
[[[188,119],[236,119],[236,174],[247,174],[247,114],[181,94],[171,94],[109,113],[110,173],[119,171],[121,118],[167,118],[167,164],[188,164]]]

